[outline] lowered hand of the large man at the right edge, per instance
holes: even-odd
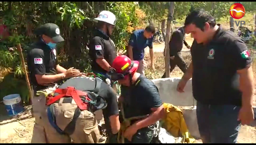
[[[252,106],[242,106],[239,111],[237,120],[240,120],[242,125],[250,125],[250,123],[254,120],[254,112]]]

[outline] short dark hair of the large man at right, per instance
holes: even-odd
[[[204,24],[206,22],[209,23],[212,28],[216,25],[215,18],[213,18],[209,12],[204,10],[194,10],[188,14],[184,25],[186,27],[187,25],[195,24],[196,27],[204,31]]]

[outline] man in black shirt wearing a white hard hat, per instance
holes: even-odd
[[[115,44],[110,38],[115,27],[116,16],[110,11],[101,11],[98,18],[93,20],[97,22],[97,30],[89,44],[92,71],[109,79],[107,72],[117,56]],[[113,86],[113,88],[115,90],[116,87]]]

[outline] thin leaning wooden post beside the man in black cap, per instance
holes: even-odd
[[[29,98],[30,98],[30,105],[32,104],[32,91],[31,91],[31,87],[30,87],[30,83],[29,83],[29,79],[28,79],[28,73],[27,73],[27,69],[26,69],[26,65],[25,65],[25,61],[24,61],[24,57],[23,57],[23,53],[22,53],[22,49],[21,49],[21,45],[20,43],[17,45],[17,48],[18,48],[18,52],[20,54],[20,60],[21,60],[21,63],[22,63],[22,68],[23,68],[23,71],[25,73],[25,77],[26,77],[26,82],[27,82],[27,86],[28,86],[28,90],[29,90]]]

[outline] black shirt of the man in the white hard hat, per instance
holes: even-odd
[[[89,44],[89,55],[91,57],[91,66],[93,72],[107,73],[106,70],[102,69],[96,62],[98,58],[104,58],[110,65],[117,56],[116,47],[113,40],[107,36],[101,30],[94,32],[94,37]]]

